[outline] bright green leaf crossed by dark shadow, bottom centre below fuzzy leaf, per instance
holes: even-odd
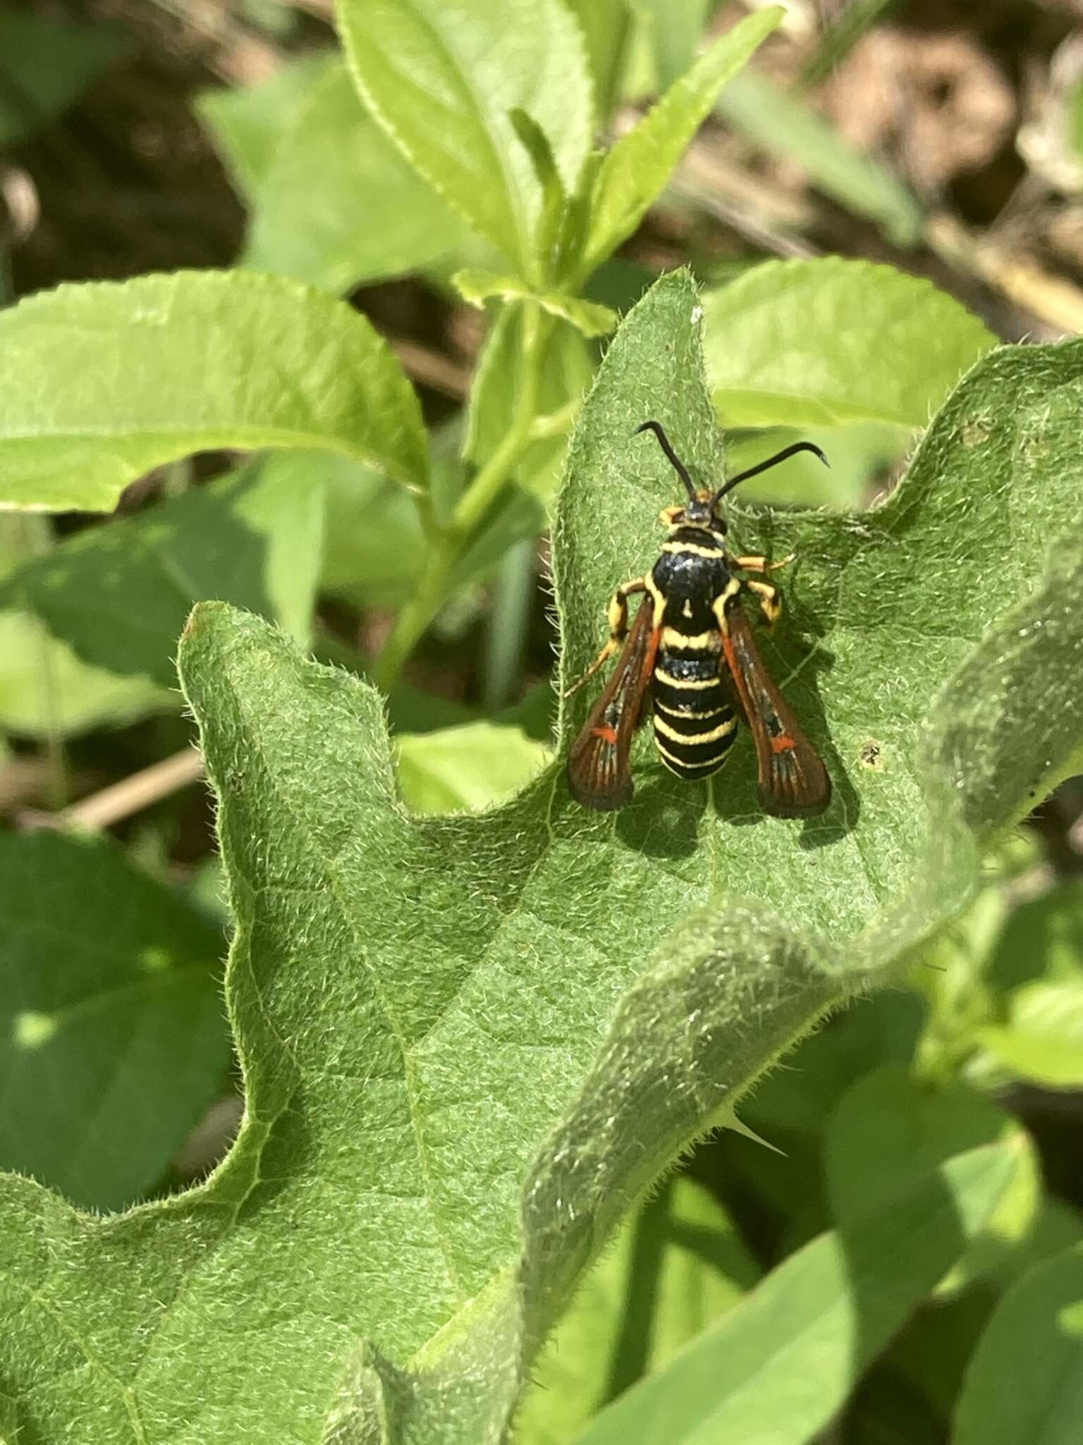
[[[621,1227],[576,1290],[534,1364],[514,1445],[567,1445],[618,1381],[669,1361],[757,1276],[713,1195],[673,1179]]]

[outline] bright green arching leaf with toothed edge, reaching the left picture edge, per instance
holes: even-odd
[[[244,272],[61,286],[0,312],[0,501],[111,509],[218,447],[319,447],[427,481],[417,397],[364,316]]]

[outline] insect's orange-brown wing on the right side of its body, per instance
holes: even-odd
[[[722,652],[755,738],[765,812],[778,818],[823,812],[832,796],[827,769],[771,681],[739,603],[726,611]]]

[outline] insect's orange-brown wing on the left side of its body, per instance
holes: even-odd
[[[572,744],[567,783],[583,808],[612,812],[631,802],[628,754],[644,714],[647,685],[658,650],[654,604],[644,597],[614,673]]]

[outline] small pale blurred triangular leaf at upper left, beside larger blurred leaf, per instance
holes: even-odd
[[[195,113],[209,130],[248,207],[256,208],[258,202],[260,186],[283,136],[341,64],[331,51],[305,55],[258,85],[219,87],[195,97]]]

